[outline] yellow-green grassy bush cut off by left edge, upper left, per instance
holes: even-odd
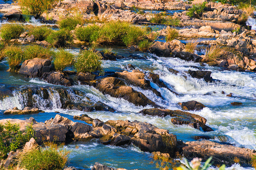
[[[21,24],[3,24],[0,29],[0,36],[4,41],[18,38],[24,31],[24,26]]]

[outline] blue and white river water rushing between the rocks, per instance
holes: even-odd
[[[33,19],[32,19],[33,20]],[[35,24],[39,25],[36,23]],[[161,37],[160,37],[161,39]],[[162,37],[164,41],[164,37]],[[161,40],[159,40],[161,41]],[[105,47],[99,48],[99,50]],[[150,100],[156,102],[158,105],[168,109],[181,109],[178,102],[196,100],[203,103],[206,107],[201,111],[190,111],[191,113],[201,115],[207,119],[206,124],[214,131],[203,132],[185,125],[173,125],[171,117],[152,117],[138,114],[144,108],[152,108],[151,106],[139,107],[129,103],[123,99],[116,99],[109,95],[103,95],[97,89],[88,85],[75,84],[71,87],[64,87],[60,85],[52,85],[39,78],[24,78],[14,72],[7,72],[9,66],[8,62],[0,63],[0,92],[5,85],[18,85],[17,90],[13,91],[12,97],[7,97],[0,100],[0,119],[4,118],[18,118],[27,119],[34,117],[37,122],[44,122],[58,114],[68,117],[72,121],[74,115],[87,114],[92,118],[98,118],[102,121],[108,120],[138,120],[154,124],[163,129],[168,129],[170,133],[177,135],[178,140],[193,141],[196,135],[208,135],[214,138],[215,141],[223,141],[234,144],[238,147],[245,147],[250,149],[256,148],[256,141],[254,129],[256,129],[256,75],[252,72],[236,72],[222,70],[219,67],[201,67],[199,63],[186,62],[179,58],[164,58],[158,57],[150,53],[132,52],[124,47],[111,47],[118,55],[129,56],[136,54],[145,59],[122,59],[117,61],[102,61],[105,71],[123,71],[127,64],[132,64],[135,68],[141,71],[157,73],[160,79],[163,80],[170,88],[179,93],[178,96],[165,88],[160,88],[156,84],[151,83],[151,86],[161,92],[163,99],[156,96],[149,90],[143,90],[139,87],[132,86],[135,90],[145,94]],[[73,54],[79,53],[79,48],[67,49]],[[198,50],[198,53],[204,53],[203,50]],[[179,70],[177,75],[168,71],[168,68]],[[72,68],[68,68],[71,70]],[[212,78],[220,80],[215,83],[206,83],[196,78],[191,78],[185,71],[188,70],[209,70],[212,71]],[[182,76],[186,75],[187,80]],[[26,94],[21,94],[22,89],[26,87],[37,88],[44,86],[47,88],[50,97],[44,100],[40,94],[34,94],[34,105],[39,109],[44,110],[45,113],[29,114],[29,115],[4,115],[6,109],[12,107],[23,108],[28,102]],[[72,97],[73,101],[87,101],[89,97],[92,101],[101,101],[116,109],[116,112],[82,112],[76,110],[61,109],[60,96],[56,92],[56,88],[66,88]],[[75,95],[73,90],[80,90],[83,92],[82,96]],[[233,97],[226,97],[226,94],[232,92]],[[216,93],[213,93],[216,92]],[[209,95],[204,95],[208,93]],[[231,106],[231,102],[242,102],[241,106]],[[123,147],[116,147],[110,145],[102,145],[97,140],[89,142],[74,142],[65,146],[68,150],[72,150],[70,158],[70,165],[78,168],[90,169],[95,162],[103,163],[107,166],[122,167],[126,169],[140,169],[153,170],[156,169],[153,164],[149,164],[152,159],[151,154],[140,151],[139,148],[129,145]],[[227,169],[250,169],[240,165],[233,165]],[[251,168],[252,169],[252,168]]]

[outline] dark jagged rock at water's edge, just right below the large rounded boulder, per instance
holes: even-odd
[[[44,72],[42,77],[48,83],[54,85],[64,85],[64,86],[71,86],[73,85],[73,79],[69,77],[65,77],[63,73],[60,71],[52,71],[50,73]]]

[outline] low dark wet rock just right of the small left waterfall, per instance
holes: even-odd
[[[116,110],[112,107],[102,103],[101,101],[97,101],[96,103],[93,102],[70,102],[69,100],[66,101],[64,109],[70,110],[80,110],[85,112],[92,112],[92,111],[107,111],[107,112],[115,112]]]

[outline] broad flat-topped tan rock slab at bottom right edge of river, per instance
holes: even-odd
[[[240,164],[250,164],[252,157],[256,155],[255,150],[218,144],[208,140],[190,141],[185,144],[186,146],[182,148],[184,156],[203,159],[212,156],[215,163],[224,163],[226,165],[234,164],[235,157],[240,160]]]

